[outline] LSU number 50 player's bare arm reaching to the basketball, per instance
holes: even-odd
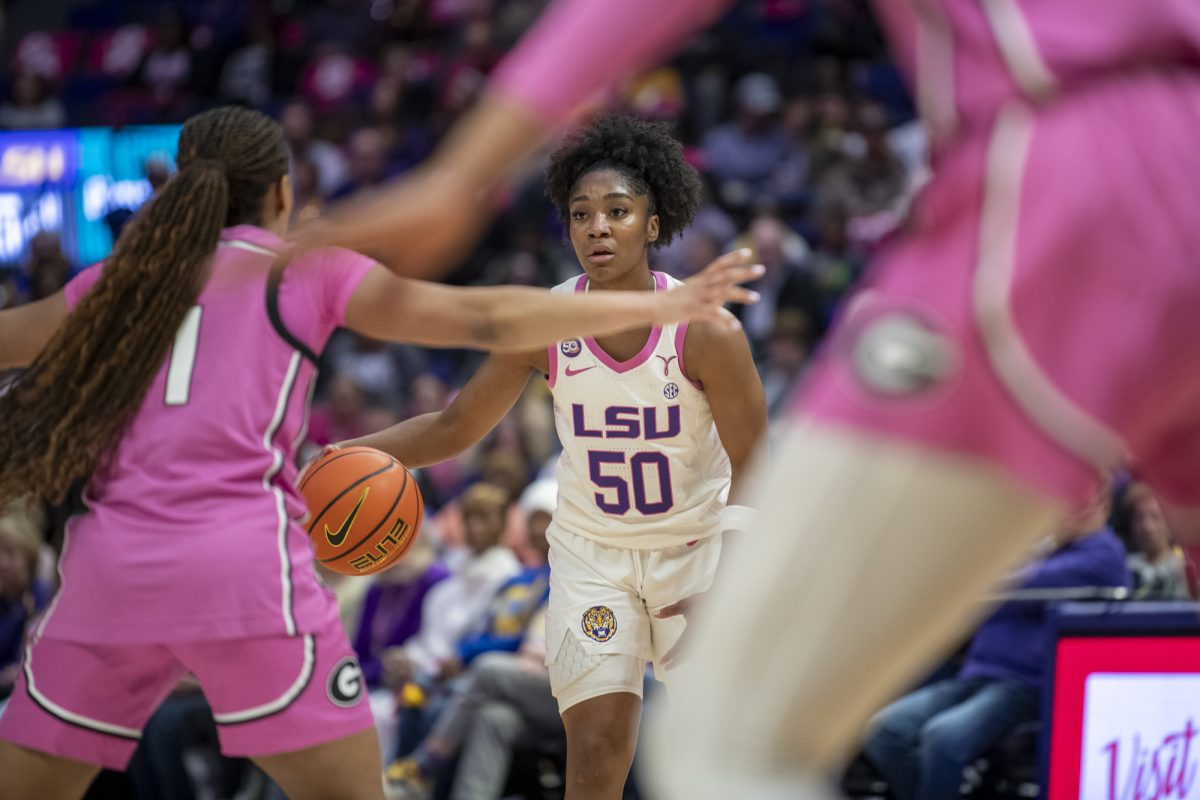
[[[486,437],[512,409],[529,383],[532,362],[530,354],[493,355],[444,410],[340,444],[374,447],[412,468],[454,458]]]

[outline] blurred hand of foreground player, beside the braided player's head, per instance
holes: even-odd
[[[334,205],[289,240],[295,249],[348,247],[398,275],[432,278],[466,257],[487,217],[479,187],[434,163]]]

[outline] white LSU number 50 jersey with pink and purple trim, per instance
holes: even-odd
[[[655,291],[679,281],[654,272]],[[587,275],[553,291],[586,291]],[[558,459],[554,522],[614,547],[658,549],[719,533],[730,458],[700,384],[688,377],[686,323],[655,326],[617,361],[593,338],[548,349]]]

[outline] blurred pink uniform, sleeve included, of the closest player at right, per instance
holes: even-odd
[[[569,0],[496,89],[562,119],[726,4]],[[1200,505],[1200,5],[878,0],[932,182],[798,395],[1082,501],[1132,458]]]

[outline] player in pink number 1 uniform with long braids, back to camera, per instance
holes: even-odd
[[[0,718],[6,799],[80,796],[101,766],[124,769],[185,673],[224,752],[253,757],[288,796],[382,798],[361,673],[294,486],[314,354],[342,324],[521,350],[719,320],[758,273],[728,259],[648,300],[449,289],[336,248],[284,264],[288,161],[257,112],[193,118],[179,174],[110,258],[0,313],[0,368],[29,367],[0,398],[0,503],[86,485]]]

